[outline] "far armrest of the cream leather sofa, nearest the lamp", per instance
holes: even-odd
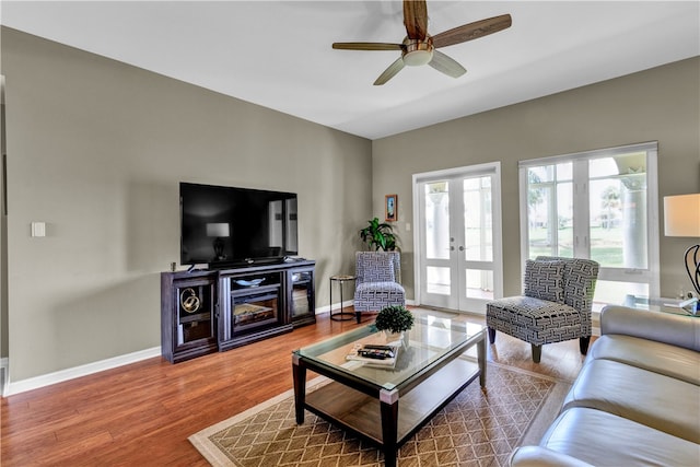
[[[621,334],[700,351],[700,317],[608,305],[600,312],[600,334]]]

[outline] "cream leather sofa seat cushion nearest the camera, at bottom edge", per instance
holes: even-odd
[[[539,444],[595,466],[691,466],[700,455],[696,443],[590,408],[563,411]]]

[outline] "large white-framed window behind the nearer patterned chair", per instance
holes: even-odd
[[[520,163],[523,264],[539,255],[600,264],[595,301],[658,294],[657,144]]]

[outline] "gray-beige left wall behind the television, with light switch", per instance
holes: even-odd
[[[369,140],[9,28],[2,74],[11,381],[160,346],[180,180],[298,192],[317,305],[353,270]]]

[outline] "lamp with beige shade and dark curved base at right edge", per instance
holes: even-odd
[[[700,238],[700,192],[664,197],[664,231],[666,236]],[[700,297],[700,245],[686,250],[686,270]]]

